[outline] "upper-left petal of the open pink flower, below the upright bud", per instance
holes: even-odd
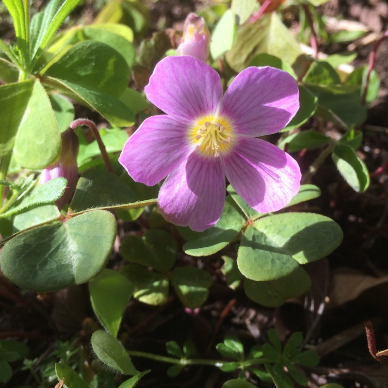
[[[145,92],[163,112],[192,122],[199,116],[218,113],[222,85],[214,69],[184,55],[159,62]]]

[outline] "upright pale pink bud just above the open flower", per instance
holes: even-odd
[[[210,33],[203,17],[191,13],[183,25],[183,36],[177,55],[190,55],[202,62],[208,60]]]

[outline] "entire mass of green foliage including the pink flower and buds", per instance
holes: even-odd
[[[299,38],[274,11],[282,1],[209,6],[188,16],[175,50],[162,32],[143,39],[149,14],[139,1],[109,2],[94,24],[58,32],[80,0],[51,0],[32,19],[29,1],[3,0],[16,41],[0,40],[1,271],[33,292],[89,282],[103,328],[94,329],[92,348],[115,372],[133,375],[121,388],[147,373],[130,356],[172,364],[171,377],[188,366],[219,368],[232,378],[225,388],[253,387],[246,379],[307,385],[301,368],[319,359],[302,349],[300,333],[281,343],[270,330],[249,352],[226,336],[215,360],[194,358],[188,341],[180,347],[172,339],[169,356],[162,356],[126,350],[118,338],[132,299],[160,306],[178,298],[195,314],[217,281],[202,265],[207,260],[223,263],[220,276],[232,290],[277,307],[310,288],[303,264],[339,245],[333,220],[292,207],[320,195],[310,178],[329,155],[354,190],[367,189],[357,126],[378,78],[371,66],[344,72],[349,56],[317,59],[319,40],[328,37],[311,8],[323,2],[296,2],[304,26]],[[310,41],[311,52],[297,39]],[[128,87],[130,74],[137,90]],[[74,121],[74,104],[95,111],[105,125]],[[313,119],[337,126],[339,136],[313,129]],[[311,148],[319,156],[301,175],[288,152]],[[131,229],[122,221],[131,221]],[[187,265],[184,255],[200,265]],[[7,381],[25,349],[0,345],[6,371],[0,381]],[[60,386],[83,388],[94,378],[99,387],[101,366],[82,369],[84,347],[73,348],[76,361],[60,357],[54,372],[50,359],[47,370]],[[32,374],[35,362],[25,361]],[[45,386],[45,376],[36,384]]]

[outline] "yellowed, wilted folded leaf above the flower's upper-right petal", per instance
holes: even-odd
[[[243,26],[225,58],[233,70],[239,72],[262,53],[274,55],[290,66],[302,54],[298,42],[275,12]]]

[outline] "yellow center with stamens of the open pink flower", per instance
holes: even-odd
[[[195,149],[206,156],[220,156],[230,150],[233,129],[224,118],[204,117],[191,130]]]

